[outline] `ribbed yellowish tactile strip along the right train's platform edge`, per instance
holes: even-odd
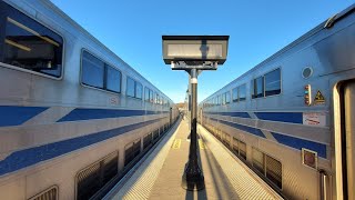
[[[197,130],[241,199],[282,199],[266,183],[257,179],[256,174],[246,170],[243,164],[237,164],[222,143],[203,127],[199,126]]]

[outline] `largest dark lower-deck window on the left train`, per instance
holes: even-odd
[[[77,199],[90,199],[119,172],[118,152],[97,161],[77,174]]]

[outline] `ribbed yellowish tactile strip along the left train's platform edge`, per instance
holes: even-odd
[[[179,129],[180,126],[174,132],[171,131],[165,136],[163,141],[160,142],[149,158],[112,199],[136,200],[149,198]]]

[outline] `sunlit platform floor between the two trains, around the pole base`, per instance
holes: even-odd
[[[282,199],[203,127],[197,128],[205,190],[181,187],[189,157],[189,123],[181,121],[120,189],[106,199]]]

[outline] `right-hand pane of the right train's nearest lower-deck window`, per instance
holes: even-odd
[[[282,188],[282,166],[281,162],[266,154],[266,178]]]

